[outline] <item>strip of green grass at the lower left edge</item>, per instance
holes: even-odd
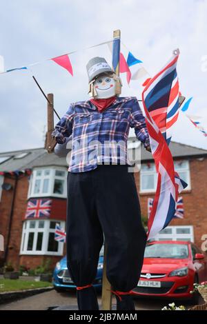
[[[51,283],[46,281],[23,281],[20,279],[0,279],[0,293],[14,292],[16,290],[27,290],[43,287],[52,287]]]

